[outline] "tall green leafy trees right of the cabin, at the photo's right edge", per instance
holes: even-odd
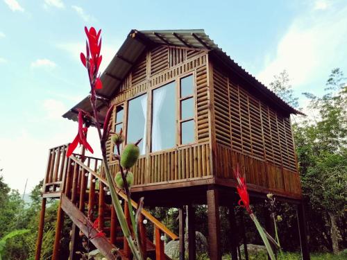
[[[339,251],[339,219],[344,216],[347,198],[347,85],[340,69],[333,69],[321,97],[305,93],[316,118],[307,117],[294,125],[303,196],[310,216],[320,215],[321,241],[330,235],[328,247]],[[315,226],[312,221],[311,227]],[[316,232],[313,230],[313,232]]]

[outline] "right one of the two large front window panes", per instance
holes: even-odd
[[[176,87],[169,83],[153,90],[152,151],[176,145]]]

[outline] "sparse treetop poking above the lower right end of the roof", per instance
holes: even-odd
[[[270,83],[270,89],[285,102],[289,103],[289,105],[298,108],[298,98],[294,96],[287,71],[284,70],[278,75],[273,76],[273,78],[275,79]]]

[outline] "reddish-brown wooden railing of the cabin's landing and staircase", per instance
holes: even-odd
[[[130,248],[126,239],[117,236],[120,227],[115,209],[110,203],[108,182],[101,170],[102,160],[78,154],[67,158],[67,146],[66,144],[49,149],[49,162],[44,179],[44,198],[60,198],[60,194],[64,193],[65,198],[71,200],[85,216],[90,215],[91,221],[96,217],[99,218],[99,229],[107,234],[110,243],[116,245],[121,239],[123,243],[122,254],[130,258]],[[117,189],[117,193],[124,205],[124,214],[130,225],[126,194],[120,189]],[[137,203],[133,200],[131,203],[137,209]],[[90,214],[91,212],[92,214]],[[146,219],[150,225],[153,225],[153,234],[155,234],[155,244],[153,244],[147,238],[146,225],[143,221],[140,221],[139,232],[142,241],[146,241],[144,243],[145,248],[155,250],[156,259],[166,259],[162,236],[167,236],[173,240],[177,240],[178,236],[144,209],[142,209],[141,218],[142,220]]]

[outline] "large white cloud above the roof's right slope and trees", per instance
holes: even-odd
[[[307,87],[317,79],[325,83],[332,68],[346,64],[341,55],[346,42],[347,7],[298,17],[278,42],[275,55],[266,55],[257,78],[269,85],[273,75],[286,69],[293,87]]]

